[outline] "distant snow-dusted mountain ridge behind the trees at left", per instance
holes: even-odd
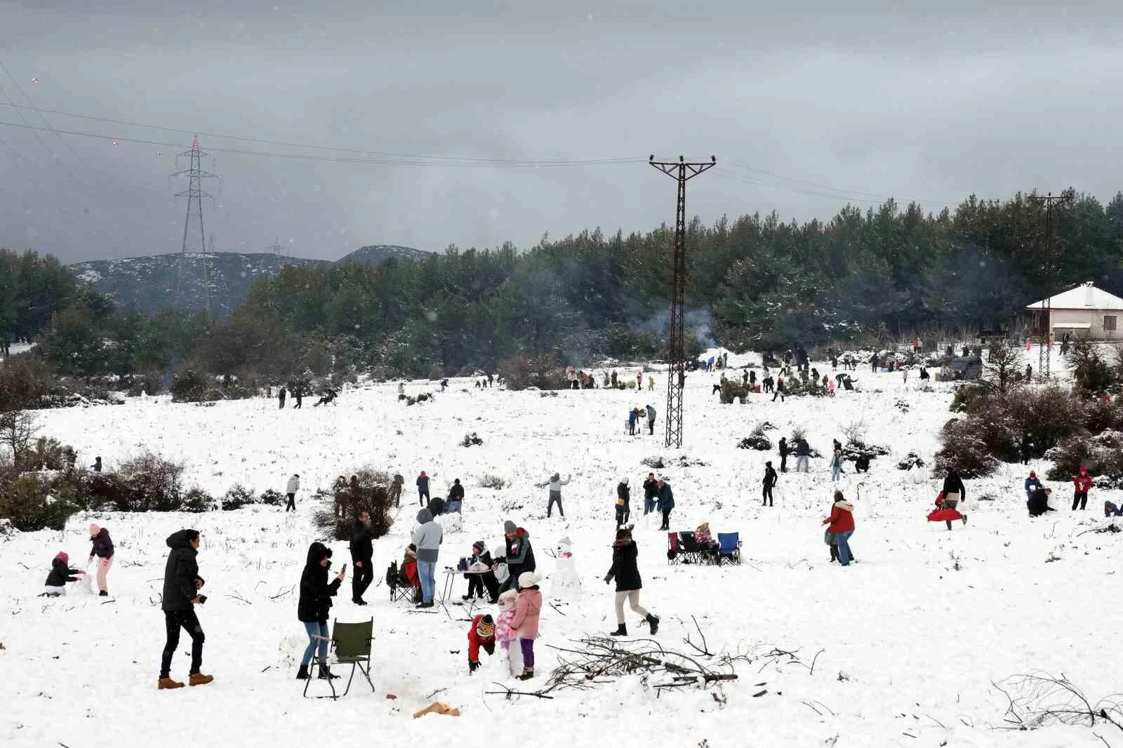
[[[329,267],[344,263],[378,264],[390,258],[420,262],[431,253],[399,245],[371,245],[359,247],[337,262],[284,257],[271,253],[209,252],[207,279],[203,284],[203,256],[186,256],[183,273],[182,305],[201,309],[206,304],[206,289],[210,288],[211,313],[226,317],[241,303],[249,288],[262,277],[272,277],[285,266]],[[135,304],[146,312],[154,312],[175,304],[180,283],[180,253],[125,257],[121,259],[91,259],[69,266],[80,282],[93,283],[101,293],[110,293],[117,302]]]

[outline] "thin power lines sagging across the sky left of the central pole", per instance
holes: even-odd
[[[30,109],[30,107],[22,107],[20,104],[10,102],[0,102],[0,107],[11,107],[13,109]],[[511,165],[511,166],[584,166],[584,165],[602,165],[602,164],[634,164],[642,161],[642,158],[493,158],[493,157],[478,157],[478,156],[440,156],[435,154],[416,154],[416,153],[395,153],[389,150],[372,150],[368,148],[349,148],[340,146],[322,146],[312,145],[309,143],[295,143],[291,140],[270,140],[265,138],[254,138],[240,135],[226,135],[222,133],[207,133],[204,130],[185,130],[179,127],[166,127],[163,125],[146,125],[144,122],[134,122],[125,119],[112,119],[109,117],[92,117],[90,115],[79,115],[75,112],[60,111],[57,109],[43,109],[38,111],[46,111],[52,115],[58,115],[61,117],[74,117],[77,119],[85,119],[94,122],[107,122],[111,125],[125,125],[127,127],[139,127],[150,130],[163,130],[165,133],[176,133],[176,134],[190,134],[194,133],[202,137],[219,138],[223,140],[241,140],[244,143],[257,143],[261,145],[272,145],[272,146],[284,146],[290,148],[307,148],[309,150],[328,150],[332,153],[350,153],[358,154],[362,158],[367,159],[371,157],[384,157],[384,158],[402,158],[402,159],[420,159],[426,162],[435,163],[454,163],[454,164],[466,164],[466,165]],[[26,122],[26,120],[25,120]],[[0,122],[7,125],[7,122]],[[90,133],[70,133],[72,135],[86,135],[89,137],[102,137],[112,138],[120,140],[122,143],[144,143],[147,145],[170,145],[162,143],[154,143],[147,140],[134,140],[130,138],[113,138],[112,136],[100,136]],[[222,148],[210,148],[211,150],[226,150],[227,153],[261,153],[261,152],[241,152],[241,150],[229,150]],[[275,155],[275,154],[264,154],[264,155]]]

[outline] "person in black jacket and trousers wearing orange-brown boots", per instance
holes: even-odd
[[[172,656],[180,646],[180,629],[191,635],[191,671],[188,682],[191,685],[204,685],[214,678],[200,672],[203,660],[203,628],[195,615],[195,605],[207,602],[206,595],[199,594],[203,578],[199,576],[199,530],[180,530],[167,536],[167,564],[164,567],[164,595],[161,608],[164,610],[164,627],[167,641],[164,644],[164,655],[159,662],[159,682],[157,688],[182,688],[183,684],[171,677]]]

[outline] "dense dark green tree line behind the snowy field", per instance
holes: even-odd
[[[1123,193],[1067,192],[1054,210],[1057,290],[1123,293]],[[695,346],[806,347],[993,328],[1044,295],[1043,207],[1029,194],[925,212],[887,201],[829,221],[776,213],[687,227]],[[0,337],[37,338],[58,374],[163,381],[184,367],[283,381],[369,372],[438,376],[522,357],[588,365],[666,354],[668,226],[585,230],[422,262],[285,267],[225,319],[145,316],[79,283],[51,256],[0,250]],[[690,336],[688,336],[690,337]]]

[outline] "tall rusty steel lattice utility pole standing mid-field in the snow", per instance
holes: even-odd
[[[683,347],[683,316],[686,304],[686,182],[718,164],[715,156],[709,162],[656,161],[648,163],[678,182],[675,208],[675,271],[670,294],[670,332],[667,338],[669,368],[667,370],[667,439],[666,446],[683,446],[683,387],[686,384],[686,355]]]

